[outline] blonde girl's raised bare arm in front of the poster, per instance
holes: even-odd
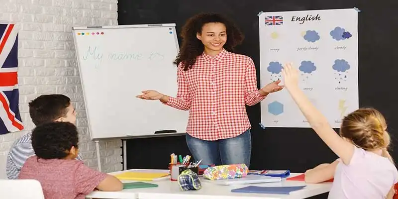
[[[293,100],[296,101],[308,123],[327,144],[327,146],[348,165],[354,153],[354,146],[343,140],[329,125],[327,119],[311,104],[304,93],[298,88],[298,71],[287,64],[282,71],[285,87]]]

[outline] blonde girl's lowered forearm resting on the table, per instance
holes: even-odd
[[[305,172],[304,181],[306,183],[322,183],[333,178],[338,161],[331,164],[320,164],[313,169]]]

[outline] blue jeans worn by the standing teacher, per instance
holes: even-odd
[[[250,129],[237,137],[215,141],[201,140],[187,133],[186,140],[196,161],[204,165],[244,163],[249,168],[252,149]]]

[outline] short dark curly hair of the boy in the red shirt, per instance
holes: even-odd
[[[78,143],[78,130],[70,122],[44,123],[32,131],[32,147],[38,158],[63,159],[72,146],[78,148]]]

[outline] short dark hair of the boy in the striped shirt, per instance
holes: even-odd
[[[41,95],[29,102],[29,114],[35,125],[65,116],[71,99],[61,94]]]

